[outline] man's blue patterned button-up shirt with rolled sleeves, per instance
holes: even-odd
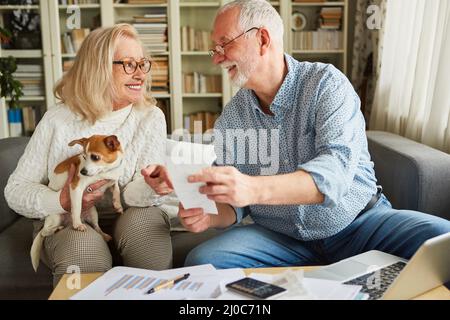
[[[288,73],[270,110],[241,89],[215,125],[217,165],[252,176],[304,170],[325,201],[317,205],[235,208],[237,221],[255,223],[300,240],[330,237],[348,226],[376,194],[360,100],[334,66],[299,62],[285,54]],[[273,185],[272,188],[285,188]]]

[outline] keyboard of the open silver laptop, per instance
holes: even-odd
[[[369,300],[378,300],[383,293],[394,282],[400,271],[406,266],[404,262],[397,262],[374,272],[362,275],[358,278],[344,282],[362,286],[361,292],[369,295]]]

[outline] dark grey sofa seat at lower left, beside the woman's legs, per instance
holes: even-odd
[[[0,233],[0,299],[47,299],[53,290],[51,271],[30,260],[33,221],[18,218]]]

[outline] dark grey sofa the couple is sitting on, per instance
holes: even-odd
[[[450,219],[450,155],[386,132],[367,132],[379,184],[396,208]],[[52,275],[41,264],[35,273],[29,250],[32,221],[8,208],[3,190],[28,138],[0,140],[0,299],[47,299]],[[174,266],[182,266],[194,246],[216,234],[172,232]]]

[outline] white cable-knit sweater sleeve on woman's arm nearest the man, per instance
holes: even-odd
[[[150,206],[152,195],[155,195],[155,192],[145,182],[141,169],[150,164],[165,163],[166,136],[164,113],[158,107],[152,107],[140,120],[134,135],[134,139],[143,141],[141,150],[126,150],[126,152],[139,152],[133,179],[123,190],[123,198],[128,206]]]

